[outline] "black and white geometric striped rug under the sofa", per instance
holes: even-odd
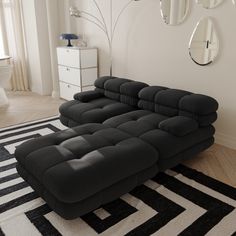
[[[0,235],[236,235],[236,189],[179,165],[82,218],[66,221],[19,177],[20,143],[65,129],[57,118],[0,130]]]

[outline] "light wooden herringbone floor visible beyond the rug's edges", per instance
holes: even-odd
[[[0,128],[58,115],[62,100],[34,93],[10,93],[10,105],[0,108]],[[184,163],[236,187],[236,150],[215,144]]]

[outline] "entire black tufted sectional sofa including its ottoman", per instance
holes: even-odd
[[[74,219],[214,143],[218,103],[187,91],[102,77],[60,107],[72,127],[17,147],[20,175]]]

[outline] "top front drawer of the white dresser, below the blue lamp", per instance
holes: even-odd
[[[59,65],[80,68],[80,50],[57,48]]]

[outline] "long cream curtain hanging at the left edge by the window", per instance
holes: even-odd
[[[12,90],[29,90],[21,0],[0,0],[0,50],[11,57]]]

